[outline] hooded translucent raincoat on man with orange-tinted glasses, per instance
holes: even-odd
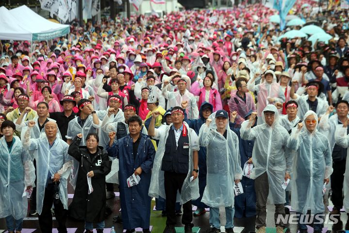
[[[308,111],[304,119],[317,114]],[[324,179],[332,174],[332,156],[330,144],[325,135],[317,131],[310,133],[303,121],[303,127],[292,129],[287,147],[296,150],[293,159],[293,180],[291,206],[296,212],[306,214],[311,210],[313,215],[325,211],[322,187]]]

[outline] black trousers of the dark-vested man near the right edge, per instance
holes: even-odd
[[[346,161],[333,162],[333,173],[331,175],[331,189],[334,207],[340,210],[343,207],[343,181]]]

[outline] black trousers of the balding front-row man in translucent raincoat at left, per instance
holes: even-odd
[[[58,222],[58,232],[67,233],[65,222],[67,218],[67,210],[64,209],[61,200],[58,203],[54,203],[54,184],[49,183],[45,188],[45,197],[41,215],[39,215],[39,225],[42,233],[52,233],[52,214],[51,207],[54,204],[55,217]]]

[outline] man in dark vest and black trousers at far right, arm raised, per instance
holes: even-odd
[[[340,215],[340,209],[343,207],[343,181],[346,170],[347,148],[336,144],[334,133],[338,125],[343,125],[348,119],[349,103],[346,100],[340,100],[336,104],[336,113],[330,117],[333,112],[333,106],[328,107],[326,114],[321,117],[319,122],[319,131],[327,136],[333,159],[333,173],[331,175],[331,189],[333,210],[330,215]],[[349,131],[347,130],[347,134]]]

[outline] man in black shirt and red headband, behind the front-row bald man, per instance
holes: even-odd
[[[64,111],[49,113],[49,117],[56,120],[58,129],[62,134],[62,139],[64,140],[64,142],[66,142],[67,139],[65,138],[65,135],[68,131],[69,121],[74,119],[74,117],[76,116],[76,114],[73,112],[73,108],[74,106],[76,106],[76,102],[73,96],[65,95],[63,96],[63,99],[60,101],[60,103],[63,106]]]

